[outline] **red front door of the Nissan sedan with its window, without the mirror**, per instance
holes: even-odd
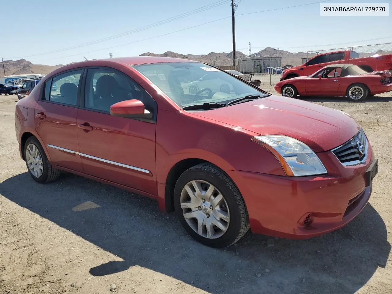
[[[156,195],[155,101],[129,76],[108,67],[88,69],[83,96],[77,124],[84,172]],[[153,119],[111,116],[111,105],[130,99],[141,100]]]

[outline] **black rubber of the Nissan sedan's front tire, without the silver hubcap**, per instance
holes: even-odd
[[[218,238],[206,238],[194,231],[183,216],[181,208],[181,191],[192,180],[201,180],[211,183],[220,191],[229,210],[229,225],[227,230]],[[174,208],[184,229],[196,241],[214,248],[230,246],[240,240],[249,230],[249,216],[245,202],[236,185],[223,171],[209,163],[201,163],[187,169],[178,178],[174,188]],[[200,209],[199,209],[200,210]],[[208,217],[208,216],[207,216]]]

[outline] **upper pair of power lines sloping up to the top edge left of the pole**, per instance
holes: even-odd
[[[109,36],[109,37],[106,37],[106,38],[102,38],[102,39],[99,39],[99,40],[91,41],[91,42],[88,42],[88,43],[74,45],[74,46],[71,46],[71,47],[67,47],[67,48],[63,48],[63,49],[57,49],[57,50],[49,51],[49,52],[45,52],[45,53],[26,55],[26,56],[22,56],[22,57],[25,58],[25,57],[40,56],[40,55],[51,54],[51,53],[58,53],[58,52],[62,52],[62,51],[68,51],[68,50],[71,50],[71,49],[78,49],[78,48],[81,48],[81,47],[85,47],[85,46],[94,45],[94,44],[98,44],[98,43],[101,43],[101,42],[113,40],[115,38],[120,38],[120,37],[123,37],[123,36],[127,36],[129,34],[134,34],[134,33],[140,32],[140,31],[145,31],[146,29],[151,29],[153,27],[157,27],[158,25],[167,24],[169,22],[173,22],[175,20],[179,20],[181,18],[185,18],[187,16],[191,16],[191,15],[194,15],[196,13],[200,13],[200,12],[203,12],[203,11],[206,11],[206,10],[218,7],[220,5],[226,4],[229,1],[230,0],[220,0],[218,2],[214,2],[212,4],[200,7],[198,9],[194,9],[194,10],[188,11],[186,13],[182,13],[180,15],[176,15],[176,16],[173,16],[171,18],[167,18],[167,19],[162,20],[160,22],[154,22],[153,24],[145,25],[143,27],[139,27],[138,29],[133,29],[131,31],[126,31],[126,32],[123,32],[123,33],[120,33],[120,34],[116,34],[116,35]],[[9,57],[9,58],[12,59],[12,58],[20,58],[20,57]]]

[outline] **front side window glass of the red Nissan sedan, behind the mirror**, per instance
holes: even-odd
[[[142,101],[145,109],[156,114],[154,99],[129,76],[109,68],[92,68],[87,71],[85,108],[110,113],[114,103],[132,99]]]

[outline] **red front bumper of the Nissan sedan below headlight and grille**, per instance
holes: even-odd
[[[367,160],[344,167],[331,152],[318,153],[328,174],[288,177],[229,171],[247,205],[252,232],[303,239],[339,229],[367,204],[372,184],[365,172],[374,160],[369,144]]]

